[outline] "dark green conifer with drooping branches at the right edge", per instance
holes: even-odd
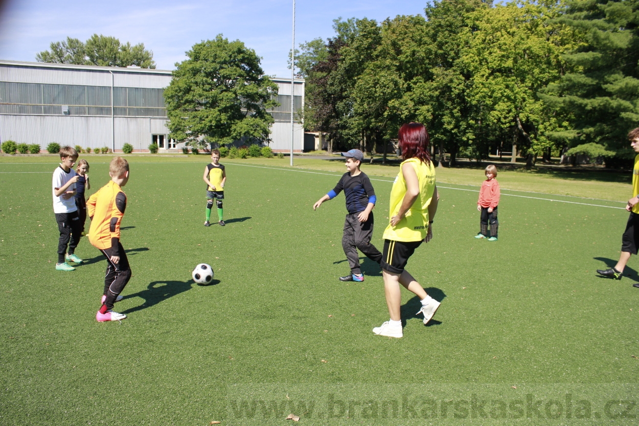
[[[569,123],[551,136],[622,155],[627,132],[639,125],[639,1],[571,1],[557,22],[583,43],[564,56],[568,72],[542,93]]]

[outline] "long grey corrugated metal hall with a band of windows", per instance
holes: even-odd
[[[279,88],[272,109],[275,118],[269,146],[291,150],[291,80],[272,79]],[[169,139],[164,88],[171,71],[146,68],[95,67],[0,61],[0,142],[51,142],[82,148],[107,146],[121,152],[130,143],[134,152],[181,152],[183,144]],[[295,80],[295,110],[304,107],[304,80]],[[304,127],[294,124],[295,152],[304,148]]]

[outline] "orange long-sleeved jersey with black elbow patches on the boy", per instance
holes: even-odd
[[[91,217],[89,242],[100,250],[118,248],[119,228],[127,208],[127,196],[118,184],[109,181],[86,202]]]

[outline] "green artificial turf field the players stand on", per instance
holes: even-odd
[[[110,158],[88,156],[88,194]],[[468,185],[481,170],[442,171],[434,239],[407,267],[442,306],[424,326],[403,290],[392,339],[371,332],[388,319],[378,266],[337,281],[343,195],[312,210],[343,164],[222,161],[227,226],[205,228],[208,157],[128,158],[119,324],[95,320],[105,260],[87,239],[86,264],[54,270],[56,157],[0,157],[0,425],[636,424],[639,267],[595,274],[619,256],[629,184],[581,177],[561,193],[568,180],[500,173],[500,239],[487,242]],[[381,249],[397,168],[378,167],[363,170]],[[580,194],[599,200],[566,196]],[[191,280],[201,262],[214,285]]]

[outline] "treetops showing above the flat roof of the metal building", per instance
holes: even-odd
[[[86,42],[67,37],[63,42],[52,42],[50,51],[36,54],[36,61],[100,65],[102,67],[155,68],[153,52],[144,49],[144,43],[120,43],[118,38],[94,34]]]

